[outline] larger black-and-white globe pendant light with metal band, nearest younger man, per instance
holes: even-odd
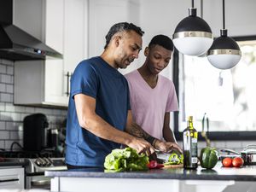
[[[172,40],[184,55],[202,55],[211,47],[212,30],[205,20],[196,16],[194,0],[192,8],[189,8],[189,16],[177,24]]]

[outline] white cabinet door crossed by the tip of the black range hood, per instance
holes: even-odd
[[[64,2],[47,0],[45,2],[45,43],[64,53]],[[44,28],[44,27],[43,27]],[[63,55],[65,59],[65,55]],[[44,103],[67,106],[67,90],[64,86],[64,61],[47,59],[44,75]]]

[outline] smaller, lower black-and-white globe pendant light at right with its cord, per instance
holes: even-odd
[[[213,41],[212,47],[207,52],[207,59],[213,67],[219,69],[230,69],[235,67],[241,59],[241,50],[233,38],[228,37],[225,29],[225,12],[223,0],[223,29],[220,37]]]

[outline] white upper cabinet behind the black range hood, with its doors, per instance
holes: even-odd
[[[38,6],[38,2],[41,6]],[[28,13],[24,15],[24,11],[16,11],[15,24],[60,52],[63,59],[15,61],[14,102],[21,105],[67,107],[70,80],[67,74],[70,76],[79,61],[87,56],[88,3],[84,0],[25,0],[25,3],[28,3]],[[31,18],[29,6],[33,6],[33,12],[38,9],[40,14]],[[21,9],[22,6],[16,1],[15,7]],[[22,19],[26,22],[22,22]],[[28,26],[25,25],[27,20],[31,21]],[[38,20],[42,32],[33,30]]]

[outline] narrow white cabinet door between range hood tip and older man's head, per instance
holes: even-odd
[[[87,1],[65,0],[64,8],[64,70],[73,73],[84,59],[87,38]]]

